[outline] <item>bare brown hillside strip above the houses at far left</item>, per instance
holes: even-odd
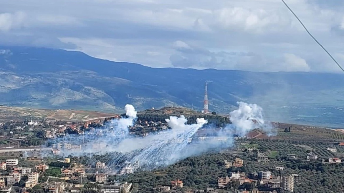
[[[62,120],[62,121],[88,121],[97,118],[113,117],[116,114],[95,111],[79,110],[47,110],[30,109],[23,107],[0,106],[0,121],[9,120]]]

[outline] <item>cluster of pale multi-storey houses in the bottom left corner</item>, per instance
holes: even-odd
[[[70,163],[69,158],[58,160],[58,162]],[[49,166],[46,164],[38,164],[34,168],[18,167],[18,159],[7,159],[5,162],[0,163],[0,170],[9,170],[10,173],[6,176],[0,176],[0,190],[1,193],[10,193],[13,191],[14,186],[19,186],[20,182],[25,179],[25,185],[21,192],[26,192],[32,189],[37,184],[42,187],[45,192],[49,193],[62,193],[62,192],[75,192],[79,193],[83,188],[83,182],[89,181],[87,179],[86,167],[82,164],[73,164],[69,168],[61,168],[61,176],[49,177],[58,178],[64,182],[40,182],[40,175],[43,175]],[[130,193],[132,191],[132,184],[127,182],[108,182],[108,175],[105,173],[98,173],[98,170],[105,169],[104,162],[96,162],[95,167],[97,172],[95,173],[95,182],[101,183],[101,191],[104,193],[111,192],[124,192]],[[24,178],[25,177],[25,178]],[[77,181],[78,183],[67,183],[66,181]],[[94,182],[93,182],[94,183]]]

